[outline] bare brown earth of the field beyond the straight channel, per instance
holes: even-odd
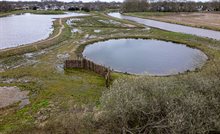
[[[220,30],[220,13],[178,13],[148,17],[155,20]]]

